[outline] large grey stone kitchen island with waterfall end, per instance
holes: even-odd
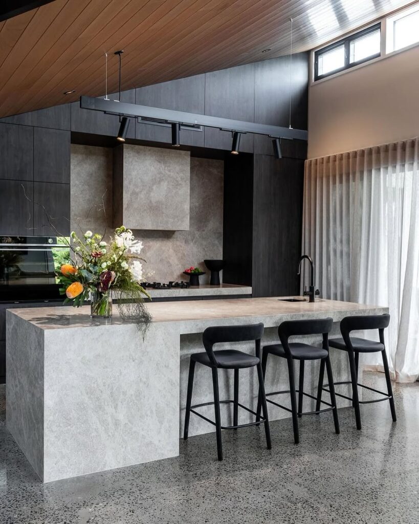
[[[263,345],[278,340],[277,327],[284,320],[331,316],[333,336],[344,316],[388,311],[278,297],[147,307],[153,320],[144,340],[136,325],[117,311],[111,320],[91,319],[89,307],[7,311],[6,424],[43,482],[177,456],[189,356],[204,351],[202,332],[208,326],[263,322]],[[240,347],[254,351],[252,344]],[[335,380],[346,377],[346,355],[333,352],[331,359]],[[307,368],[306,391],[316,386],[317,372]],[[220,398],[231,398],[232,385],[228,372],[220,374]],[[288,389],[283,363],[269,365],[266,389]],[[242,370],[239,395],[245,405],[256,406],[252,369]],[[210,400],[211,373],[198,366],[193,403]],[[272,408],[271,420],[287,416]],[[211,407],[208,414],[212,417]],[[248,420],[247,412],[239,414],[239,423]],[[229,413],[222,412],[223,417]],[[191,418],[190,436],[210,431],[210,424]]]

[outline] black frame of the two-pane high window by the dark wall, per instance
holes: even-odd
[[[314,51],[314,82],[316,82],[317,80],[322,80],[324,78],[330,77],[330,76],[332,76],[334,74],[341,73],[342,71],[346,71],[348,69],[356,67],[357,65],[363,64],[365,62],[369,62],[370,60],[374,60],[374,59],[380,58],[381,57],[381,51],[382,51],[381,45],[380,45],[379,52],[371,54],[370,56],[362,58],[361,60],[357,60],[356,62],[351,62],[351,63],[349,62],[349,60],[350,60],[350,43],[352,41],[354,41],[354,40],[358,40],[359,38],[362,38],[362,37],[368,36],[368,35],[370,35],[370,34],[372,34],[374,32],[377,32],[377,30],[380,31],[380,42],[381,42],[382,35],[383,35],[383,28],[382,28],[382,23],[381,23],[381,20],[380,20],[378,23],[373,24],[372,26],[369,26],[369,27],[367,27],[365,29],[361,29],[360,31],[352,33],[351,35],[348,35],[348,36],[346,36],[344,38],[341,38],[337,42],[333,42],[333,43],[331,43],[328,46],[322,47],[321,49],[317,49],[316,51]],[[341,67],[339,69],[334,69],[333,71],[329,71],[328,73],[319,75],[318,74],[318,58],[319,58],[319,56],[321,56],[324,53],[327,53],[328,51],[333,51],[334,49],[336,49],[338,47],[341,47],[342,45],[344,46],[344,50],[345,50],[345,64],[343,65],[343,67]]]

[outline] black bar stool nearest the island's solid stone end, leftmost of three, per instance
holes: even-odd
[[[188,439],[189,430],[189,419],[191,412],[201,417],[202,419],[215,425],[217,435],[217,452],[218,460],[223,460],[223,446],[221,441],[221,430],[222,429],[237,429],[246,428],[251,425],[259,425],[260,417],[257,422],[249,422],[248,424],[238,424],[238,408],[243,408],[256,416],[257,413],[242,406],[238,401],[239,395],[239,369],[256,366],[259,379],[259,398],[261,399],[263,418],[266,433],[266,444],[268,450],[271,449],[271,435],[269,430],[268,421],[268,409],[266,406],[265,391],[263,386],[262,367],[260,364],[260,339],[263,335],[263,324],[249,324],[243,326],[214,326],[213,328],[207,328],[203,335],[202,340],[205,347],[205,353],[194,353],[191,355],[191,361],[189,365],[189,377],[188,377],[188,394],[186,396],[186,412],[185,412],[185,427],[183,431],[183,439]],[[243,353],[238,350],[221,350],[213,351],[214,344],[223,342],[245,342],[255,341],[256,356]],[[213,389],[214,389],[214,402],[205,402],[203,404],[197,404],[191,406],[192,402],[192,388],[193,388],[193,377],[195,372],[195,364],[199,362],[204,366],[210,367],[213,375]],[[221,369],[234,369],[234,400],[219,400],[218,393],[218,368]],[[219,412],[219,405],[223,403],[233,403],[233,425],[222,426]],[[201,413],[195,411],[195,408],[202,406],[210,406],[214,404],[215,410],[215,422],[204,417]]]

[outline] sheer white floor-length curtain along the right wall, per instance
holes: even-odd
[[[307,160],[302,252],[324,298],[390,308],[393,378],[416,380],[419,138]]]

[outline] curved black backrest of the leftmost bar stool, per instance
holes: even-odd
[[[263,335],[263,324],[246,324],[242,326],[213,326],[202,334],[202,342],[211,364],[217,366],[213,346],[220,342],[255,341],[256,356],[260,357],[260,339]]]

